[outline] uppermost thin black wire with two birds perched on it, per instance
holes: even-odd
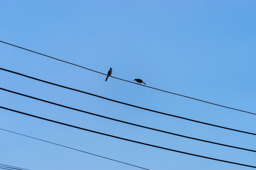
[[[42,53],[38,53],[38,52],[36,52],[36,51],[32,51],[32,50],[29,50],[29,49],[25,49],[25,48],[22,48],[22,47],[20,47],[20,46],[16,46],[16,45],[13,45],[13,44],[10,44],[10,43],[7,43],[7,42],[3,42],[3,41],[0,41],[0,42],[2,42],[2,43],[4,43],[4,44],[11,45],[11,46],[15,46],[15,47],[20,48],[20,49],[23,49],[23,50],[27,50],[27,51],[36,53],[36,54],[39,54],[39,55],[43,55],[43,56],[45,56],[45,57],[49,57],[49,58],[52,58],[52,59],[54,59],[54,60],[58,60],[58,61],[61,61],[61,62],[65,62],[65,63],[67,63],[67,64],[72,64],[72,65],[74,65],[74,66],[78,66],[78,67],[81,67],[81,68],[85,68],[85,69],[87,69],[87,70],[94,71],[94,72],[96,72],[96,73],[100,73],[100,74],[103,74],[103,75],[107,75],[107,74],[101,73],[101,72],[99,72],[99,71],[95,71],[95,70],[92,70],[92,69],[90,69],[90,68],[86,68],[86,67],[83,67],[83,66],[79,66],[79,65],[73,64],[73,63],[71,63],[71,62],[66,62],[66,61],[64,61],[64,60],[60,60],[60,59],[58,59],[58,58],[54,58],[54,57],[51,57],[51,56],[49,56],[49,55],[45,55],[45,54],[42,54]],[[110,77],[113,77],[113,76],[110,76]],[[125,81],[125,82],[129,82],[129,83],[137,84],[137,83],[135,83],[135,82],[131,82],[131,81],[128,81],[128,80],[125,80],[125,79],[121,79],[121,78],[118,78],[118,77],[113,77],[113,78],[119,79],[119,80],[122,80],[122,81]],[[189,99],[197,100],[197,101],[200,101],[200,102],[204,102],[204,103],[208,103],[208,104],[213,104],[213,105],[216,105],[216,106],[220,106],[220,107],[224,107],[224,108],[229,108],[229,109],[232,109],[232,110],[237,110],[237,111],[240,111],[240,112],[245,112],[245,113],[250,113],[250,114],[256,115],[256,113],[252,113],[252,112],[248,112],[248,111],[245,111],[245,110],[240,110],[240,109],[236,109],[236,108],[231,108],[231,107],[223,106],[223,105],[215,104],[215,103],[212,103],[212,102],[207,102],[207,101],[204,101],[204,100],[201,100],[201,99],[196,99],[196,98],[193,98],[193,97],[189,97],[189,96],[185,96],[185,95],[180,95],[180,94],[172,93],[172,92],[169,92],[169,91],[164,91],[164,90],[161,90],[161,89],[159,89],[159,88],[154,88],[154,87],[150,87],[150,86],[146,86],[146,85],[142,85],[142,84],[138,84],[138,85],[145,86],[145,87],[148,87],[148,88],[153,88],[153,89],[155,89],[155,90],[162,91],[162,92],[166,92],[166,93],[171,93],[171,94],[173,94],[173,95],[178,95],[178,96],[186,97],[186,98],[189,98]]]

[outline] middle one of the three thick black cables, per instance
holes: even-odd
[[[175,135],[175,136],[184,137],[184,138],[188,138],[188,139],[193,139],[193,140],[197,140],[197,141],[203,141],[203,142],[207,142],[207,143],[210,143],[210,144],[216,144],[216,145],[220,145],[220,146],[227,146],[227,147],[230,147],[230,148],[236,148],[236,149],[256,152],[256,150],[250,150],[250,149],[246,149],[246,148],[240,148],[240,147],[236,147],[236,146],[220,144],[220,143],[216,143],[216,142],[212,142],[212,141],[207,141],[207,140],[202,140],[202,139],[197,139],[197,138],[193,138],[193,137],[187,137],[187,136],[184,136],[184,135],[179,135],[179,134],[175,134],[175,133],[172,133],[172,132],[167,132],[167,131],[164,131],[164,130],[150,128],[150,127],[146,127],[146,126],[142,126],[142,125],[138,125],[138,124],[133,124],[133,123],[130,123],[130,122],[127,122],[127,121],[122,121],[122,120],[118,120],[118,119],[114,119],[114,118],[110,118],[110,117],[106,117],[106,116],[102,116],[102,115],[97,115],[95,113],[90,113],[90,112],[87,112],[87,111],[84,111],[84,110],[79,110],[79,109],[76,109],[76,108],[64,106],[64,105],[57,104],[57,103],[54,103],[54,102],[49,102],[47,100],[43,100],[43,99],[39,99],[39,98],[32,97],[32,96],[29,96],[29,95],[25,95],[25,94],[21,94],[21,93],[18,93],[18,92],[10,91],[10,90],[7,90],[7,89],[1,88],[1,87],[0,87],[0,90],[7,91],[7,92],[10,92],[10,93],[14,93],[14,94],[21,95],[21,96],[25,96],[25,97],[29,97],[31,99],[36,99],[36,100],[39,100],[41,102],[45,102],[45,103],[49,103],[49,104],[54,104],[56,106],[61,106],[63,108],[68,108],[68,109],[76,110],[76,111],[79,111],[79,112],[82,112],[82,113],[87,113],[87,114],[98,116],[98,117],[102,117],[102,118],[105,118],[105,119],[110,119],[110,120],[113,120],[113,121],[118,121],[118,122],[121,122],[121,123],[124,123],[124,124],[129,124],[129,125],[132,125],[132,126],[137,126],[137,127],[141,127],[141,128],[155,130],[155,131],[158,131],[158,132],[163,132],[163,133],[167,133],[167,134],[170,134],[170,135]]]

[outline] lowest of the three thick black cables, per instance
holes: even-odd
[[[54,122],[56,124],[62,124],[62,125],[69,126],[69,127],[72,127],[72,128],[77,128],[77,129],[85,130],[85,131],[88,131],[88,132],[93,132],[93,133],[97,133],[97,134],[100,134],[100,135],[104,135],[104,136],[108,136],[108,137],[113,137],[113,138],[116,138],[116,139],[122,139],[122,140],[125,140],[125,141],[130,141],[130,142],[133,142],[133,143],[137,143],[137,144],[142,144],[142,145],[151,146],[151,147],[155,147],[155,148],[159,148],[159,149],[164,149],[164,150],[169,150],[169,151],[173,151],[173,152],[178,152],[178,153],[182,153],[182,154],[186,154],[186,155],[191,155],[191,156],[195,156],[195,157],[201,157],[201,158],[205,158],[205,159],[211,159],[211,160],[215,160],[215,161],[221,161],[221,162],[225,162],[225,163],[232,163],[232,164],[236,164],[236,165],[240,165],[240,166],[247,166],[247,167],[251,167],[251,168],[256,168],[256,166],[251,166],[251,165],[246,165],[246,164],[236,163],[236,162],[231,162],[231,161],[225,161],[225,160],[211,158],[211,157],[205,157],[205,156],[202,156],[202,155],[196,155],[196,154],[192,154],[192,153],[188,153],[188,152],[182,152],[182,151],[179,151],[179,150],[173,150],[173,149],[169,149],[169,148],[164,148],[164,147],[156,146],[156,145],[152,145],[152,144],[146,144],[146,143],[139,142],[139,141],[134,141],[134,140],[131,140],[131,139],[117,137],[117,136],[114,136],[114,135],[109,135],[109,134],[106,134],[106,133],[97,132],[97,131],[94,131],[94,130],[89,130],[89,129],[81,128],[81,127],[78,127],[78,126],[73,126],[73,125],[70,125],[70,124],[65,124],[65,123],[62,123],[62,122],[59,122],[59,121],[54,121],[54,120],[51,120],[51,119],[46,119],[46,118],[43,118],[43,117],[39,117],[39,116],[36,116],[36,115],[31,115],[31,114],[28,114],[28,113],[20,112],[20,111],[13,110],[13,109],[10,109],[10,108],[5,108],[5,107],[2,107],[2,106],[0,106],[0,108],[3,108],[5,110],[10,110],[12,112],[20,113],[22,115],[27,115],[27,116],[35,117],[35,118],[38,118],[38,119],[43,119],[43,120],[46,120],[46,121],[51,121],[51,122]]]

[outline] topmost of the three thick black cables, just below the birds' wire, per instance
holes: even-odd
[[[242,131],[242,130],[236,130],[236,129],[227,128],[227,127],[224,127],[224,126],[218,126],[218,125],[214,125],[214,124],[209,124],[209,123],[205,123],[205,122],[202,122],[202,121],[197,121],[197,120],[193,120],[193,119],[188,119],[188,118],[185,118],[185,117],[180,117],[180,116],[176,116],[176,115],[171,115],[171,114],[168,114],[168,113],[163,113],[163,112],[159,112],[159,111],[156,111],[156,110],[151,110],[151,109],[148,109],[148,108],[143,108],[143,107],[135,106],[135,105],[132,105],[132,104],[127,104],[127,103],[124,103],[124,102],[119,102],[119,101],[117,101],[117,100],[109,99],[109,98],[102,97],[102,96],[99,96],[99,95],[94,95],[94,94],[92,94],[92,93],[88,93],[88,92],[85,92],[85,91],[80,91],[80,90],[77,90],[77,89],[74,89],[74,88],[70,88],[70,87],[67,87],[67,86],[62,86],[62,85],[55,84],[55,83],[52,83],[52,82],[47,82],[47,81],[42,80],[42,79],[34,78],[34,77],[31,77],[31,76],[24,75],[24,74],[21,74],[21,73],[17,73],[17,72],[14,72],[14,71],[10,71],[10,70],[4,69],[4,68],[0,68],[0,70],[7,71],[7,72],[10,72],[10,73],[14,73],[14,74],[17,74],[17,75],[21,75],[21,76],[23,76],[23,77],[27,77],[27,78],[30,78],[30,79],[35,79],[35,80],[37,80],[37,81],[44,82],[44,83],[47,83],[47,84],[52,84],[52,85],[54,85],[54,86],[66,88],[66,89],[69,89],[69,90],[72,90],[72,91],[77,91],[77,92],[79,92],[79,93],[84,93],[84,94],[87,94],[87,95],[92,95],[92,96],[99,97],[99,98],[102,98],[102,99],[106,99],[106,100],[109,100],[109,101],[112,101],[112,102],[124,104],[124,105],[127,105],[127,106],[132,106],[132,107],[135,107],[135,108],[140,108],[140,109],[143,109],[143,110],[148,110],[148,111],[150,111],[150,112],[155,112],[155,113],[159,113],[159,114],[162,114],[162,115],[167,115],[167,116],[171,116],[171,117],[176,117],[176,118],[179,118],[179,119],[184,119],[184,120],[188,120],[188,121],[193,121],[193,122],[196,122],[196,123],[205,124],[205,125],[209,125],[209,126],[214,126],[214,127],[218,127],[218,128],[223,128],[223,129],[227,129],[227,130],[233,130],[233,131],[236,131],[236,132],[246,133],[246,134],[250,134],[250,135],[256,135],[256,133],[252,133],[252,132],[245,132],[245,131]]]

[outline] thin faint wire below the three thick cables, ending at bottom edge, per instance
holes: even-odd
[[[5,130],[5,129],[0,128],[0,130]],[[12,131],[10,131],[10,130],[5,130],[5,131],[7,131],[7,132],[12,132]],[[97,156],[97,157],[109,159],[109,160],[111,160],[111,161],[116,161],[116,162],[119,162],[119,163],[124,163],[124,164],[126,164],[126,165],[135,166],[135,165],[132,165],[132,164],[130,164],[130,163],[125,163],[125,162],[117,161],[117,160],[115,160],[115,159],[110,159],[110,158],[103,157],[103,156],[100,156],[100,155],[96,155],[96,154],[92,154],[92,153],[89,153],[89,152],[85,152],[85,151],[83,151],[83,150],[78,150],[78,149],[70,148],[70,147],[68,147],[68,146],[64,146],[64,145],[56,144],[56,143],[53,143],[53,142],[45,141],[45,140],[43,140],[43,139],[38,139],[38,138],[35,138],[35,137],[23,135],[23,134],[20,134],[20,133],[17,133],[17,132],[12,132],[12,133],[15,133],[15,134],[18,134],[18,135],[22,135],[22,136],[25,136],[25,137],[30,137],[30,138],[32,138],[32,139],[36,139],[36,140],[39,140],[39,141],[44,141],[44,142],[47,142],[47,143],[49,143],[49,144],[54,144],[54,145],[62,146],[62,147],[65,147],[65,148],[73,149],[73,150],[76,150],[76,151],[79,151],[79,152],[84,152],[84,153],[87,153],[87,154],[90,154],[90,155],[94,155],[94,156]],[[135,166],[135,167],[141,168],[141,169],[144,169],[144,170],[149,170],[149,169],[142,168],[142,167],[139,167],[139,166]]]

